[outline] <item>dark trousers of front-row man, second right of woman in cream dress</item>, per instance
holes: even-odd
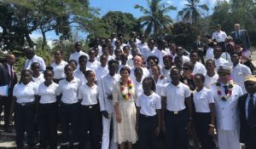
[[[178,113],[165,112],[166,122],[166,149],[174,149],[175,145],[180,149],[188,149],[187,124],[189,122],[188,111],[184,109]]]

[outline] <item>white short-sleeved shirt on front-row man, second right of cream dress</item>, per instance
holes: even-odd
[[[166,97],[167,110],[179,112],[186,108],[185,98],[190,96],[190,90],[189,86],[184,83],[178,83],[177,86],[172,83],[166,83],[161,95]]]

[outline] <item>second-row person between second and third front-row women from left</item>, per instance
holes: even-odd
[[[64,67],[66,65],[67,61],[63,60],[63,51],[61,49],[57,49],[55,51],[55,61],[50,65],[55,72],[53,79],[55,83],[59,83],[59,81],[65,77]]]

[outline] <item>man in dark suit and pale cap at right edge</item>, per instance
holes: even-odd
[[[238,99],[240,110],[240,141],[247,149],[256,146],[256,77],[248,75],[245,78],[247,94]]]

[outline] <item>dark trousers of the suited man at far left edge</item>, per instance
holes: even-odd
[[[8,129],[9,128],[9,117],[11,117],[11,113],[10,113],[10,106],[12,103],[12,97],[8,96],[8,97],[0,97],[0,115],[1,112],[3,111],[3,107],[4,107],[4,129]]]

